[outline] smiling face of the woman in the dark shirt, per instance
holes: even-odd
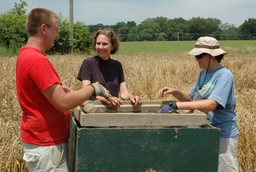
[[[110,57],[110,52],[113,50],[110,38],[106,35],[99,35],[96,40],[95,49],[100,58],[107,60]]]

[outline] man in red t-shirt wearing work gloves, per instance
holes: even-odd
[[[21,141],[29,171],[68,171],[67,141],[70,109],[82,105],[92,95],[111,100],[100,84],[71,90],[61,83],[45,55],[59,37],[58,15],[35,8],[27,16],[28,42],[16,61],[17,96],[22,109]]]

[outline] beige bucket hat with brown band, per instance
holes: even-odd
[[[197,56],[202,53],[211,54],[211,56],[218,56],[220,54],[227,54],[220,48],[220,43],[215,38],[204,36],[198,38],[195,48],[191,50],[188,54]]]

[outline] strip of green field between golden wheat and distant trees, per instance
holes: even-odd
[[[161,42],[121,42],[118,54],[153,53],[188,53],[195,46],[196,41],[161,41]],[[221,49],[230,54],[247,54],[256,52],[255,40],[223,40]]]

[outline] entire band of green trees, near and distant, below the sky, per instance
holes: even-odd
[[[26,1],[20,0],[6,13],[0,15],[0,43],[4,47],[18,48],[24,45],[26,34]],[[70,26],[67,18],[58,14],[60,29],[54,48],[50,53],[69,53],[92,51],[92,35],[100,28],[111,27],[122,42],[141,41],[188,41],[197,40],[200,36],[212,36],[217,40],[256,40],[256,19],[245,20],[241,26],[222,24],[220,19],[193,17],[168,19],[166,17],[148,18],[140,24],[134,21],[118,22],[115,25],[86,25],[77,21],[74,24],[74,39],[70,40]],[[72,46],[72,47],[71,47]]]

